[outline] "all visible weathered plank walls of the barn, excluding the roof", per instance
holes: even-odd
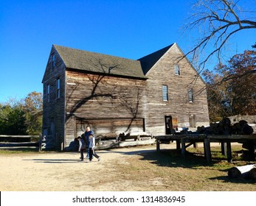
[[[54,47],[53,53],[55,68],[49,61],[43,79],[43,130],[54,137],[58,149],[69,146],[86,124],[100,134],[146,131],[153,135],[165,134],[165,116],[176,118],[178,127],[189,127],[191,115],[196,127],[209,124],[207,93],[198,93],[204,82],[200,77],[193,82],[197,73],[186,58],[179,61],[182,53],[176,45],[151,68],[147,80],[75,71],[65,68]],[[174,74],[176,64],[179,76]],[[58,78],[60,99],[56,98]],[[48,84],[50,102],[46,97]],[[162,85],[168,87],[167,102],[162,100]],[[193,88],[193,103],[188,102],[189,88]]]

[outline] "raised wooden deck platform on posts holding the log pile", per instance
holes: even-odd
[[[232,162],[232,142],[243,143],[247,142],[249,147],[249,154],[252,160],[255,160],[256,135],[158,135],[156,138],[156,150],[160,151],[160,143],[162,141],[176,141],[176,149],[181,150],[181,154],[185,157],[186,148],[192,144],[202,142],[204,143],[204,156],[208,163],[212,161],[212,154],[210,143],[221,143],[221,152],[226,154],[227,161]],[[187,144],[186,144],[187,143]]]

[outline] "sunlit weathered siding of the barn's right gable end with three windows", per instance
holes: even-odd
[[[153,135],[165,134],[165,116],[177,118],[179,127],[190,127],[189,118],[194,115],[196,127],[209,125],[207,93],[200,77],[179,48],[174,44],[156,65],[148,71],[146,85],[146,131]],[[174,65],[179,65],[180,75],[174,74]],[[163,101],[162,85],[167,85],[168,101]],[[193,103],[189,102],[188,89],[193,88]],[[201,91],[201,92],[199,92]]]

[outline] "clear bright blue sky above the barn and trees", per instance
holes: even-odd
[[[255,0],[242,0],[252,8]],[[187,0],[1,0],[0,102],[42,92],[52,44],[138,59],[171,43],[184,52],[198,34],[182,35]],[[255,29],[256,30],[256,29]],[[232,39],[232,52],[252,49],[256,32]]]

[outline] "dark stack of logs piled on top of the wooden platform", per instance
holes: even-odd
[[[204,135],[252,135],[253,129],[245,120],[232,125],[229,118],[223,118],[219,123],[210,124],[210,127],[197,127],[197,132]]]

